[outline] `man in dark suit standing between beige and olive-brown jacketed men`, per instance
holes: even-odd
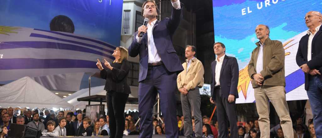
[[[228,137],[228,122],[230,137],[238,138],[235,101],[238,98],[238,63],[235,57],[225,55],[226,47],[221,42],[213,44],[213,51],[217,57],[211,63],[210,102],[216,103],[217,106],[219,138]]]

